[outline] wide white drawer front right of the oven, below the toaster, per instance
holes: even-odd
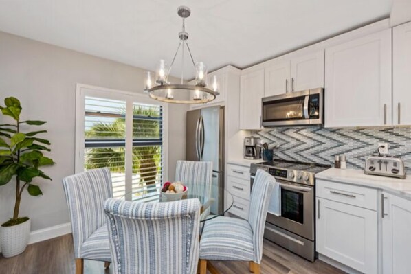
[[[320,198],[377,210],[377,190],[372,188],[317,179],[315,190]]]

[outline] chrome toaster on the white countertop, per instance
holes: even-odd
[[[366,174],[406,179],[406,168],[401,157],[373,155],[366,159]]]

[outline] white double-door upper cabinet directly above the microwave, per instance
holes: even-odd
[[[265,68],[264,96],[324,87],[324,51],[277,58]]]

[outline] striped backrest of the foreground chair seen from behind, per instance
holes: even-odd
[[[187,273],[199,260],[198,199],[104,203],[115,274]]]

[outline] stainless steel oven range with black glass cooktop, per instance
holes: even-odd
[[[280,183],[280,213],[269,212],[264,237],[313,262],[315,253],[315,174],[331,165],[275,159],[251,165],[251,187],[258,169]],[[271,197],[278,199],[279,197]]]

